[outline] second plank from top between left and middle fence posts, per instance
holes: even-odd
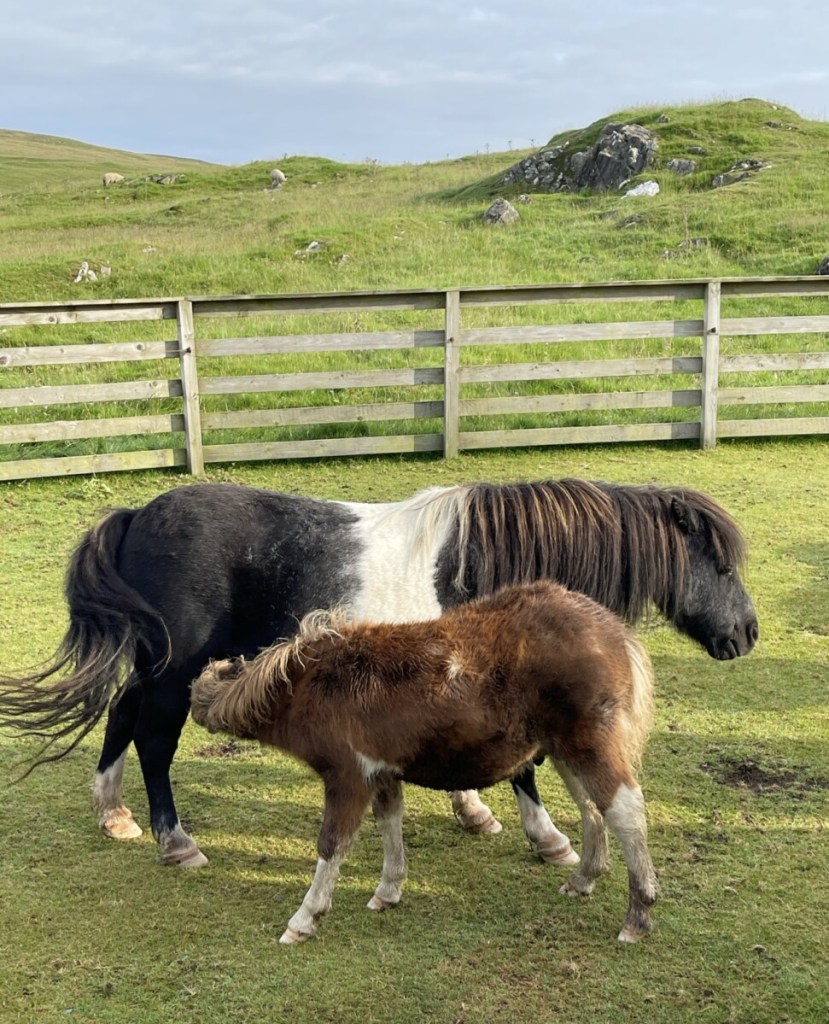
[[[269,335],[256,338],[210,338],[199,341],[202,357],[273,355],[294,352],[367,352],[383,349],[438,348],[442,331],[375,331],[360,334]]]

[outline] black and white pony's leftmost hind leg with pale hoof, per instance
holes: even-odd
[[[128,686],[110,706],[103,746],[92,779],[92,809],[97,815],[100,830],[111,839],[135,839],[141,835],[132,811],[122,797],[124,762],[135,732],[140,706],[141,688],[136,683]]]

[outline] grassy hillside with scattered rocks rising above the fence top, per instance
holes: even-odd
[[[582,147],[608,121],[657,132],[659,196],[537,195],[494,229],[481,215],[493,195],[527,190],[498,182],[529,151],[390,167],[293,157],[271,191],[272,161],[224,167],[2,132],[0,301],[800,274],[829,252],[829,124],[749,99],[621,111],[565,134]],[[665,169],[690,146],[704,150],[696,173]],[[747,159],[766,169],[711,187]],[[128,180],[104,189],[104,170]],[[112,275],[74,285],[82,260]]]

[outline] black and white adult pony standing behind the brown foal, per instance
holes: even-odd
[[[211,658],[253,656],[316,608],[345,605],[369,622],[431,620],[505,585],[542,579],[628,622],[656,606],[712,657],[734,658],[757,639],[737,571],[744,557],[731,516],[679,487],[478,483],[393,504],[221,483],[176,487],[111,512],[83,538],[67,575],[62,644],[43,671],[0,678],[0,725],[46,738],[34,767],[69,753],[108,709],[92,787],[101,829],[140,835],[122,798],[132,741],[162,861],[199,866],[207,858],[181,826],[170,766],[190,682]],[[574,863],[531,765],[513,787],[542,859]],[[474,791],[453,794],[452,806],[471,830],[500,828]]]

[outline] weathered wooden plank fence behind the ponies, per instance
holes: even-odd
[[[0,480],[826,434],[828,335],[826,278],[3,304]]]

